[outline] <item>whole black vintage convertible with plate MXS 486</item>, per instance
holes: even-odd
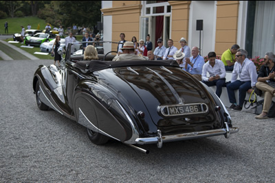
[[[95,144],[113,138],[148,153],[142,145],[239,131],[217,95],[173,60],[115,62],[109,53],[83,60],[70,47],[61,69],[34,73],[37,105],[87,127]]]

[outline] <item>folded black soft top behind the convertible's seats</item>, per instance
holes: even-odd
[[[109,69],[120,66],[150,66],[150,65],[158,65],[158,66],[176,66],[179,67],[179,64],[175,60],[131,60],[131,61],[100,61],[100,60],[83,60],[78,61],[74,64],[74,67],[94,72],[100,71],[103,69]]]

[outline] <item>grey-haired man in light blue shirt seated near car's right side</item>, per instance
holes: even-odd
[[[197,80],[201,81],[201,73],[204,64],[204,58],[199,56],[199,48],[192,47],[192,57],[186,58],[184,71],[192,74]]]

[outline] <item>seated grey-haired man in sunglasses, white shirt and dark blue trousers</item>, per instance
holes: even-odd
[[[228,89],[228,97],[230,106],[233,110],[241,110],[243,102],[245,101],[246,91],[252,91],[257,82],[257,71],[254,63],[247,58],[248,51],[244,49],[238,49],[236,51],[236,63],[232,71],[231,83],[226,86]],[[240,80],[237,80],[237,78]],[[239,105],[236,105],[236,98],[234,90],[239,89]]]

